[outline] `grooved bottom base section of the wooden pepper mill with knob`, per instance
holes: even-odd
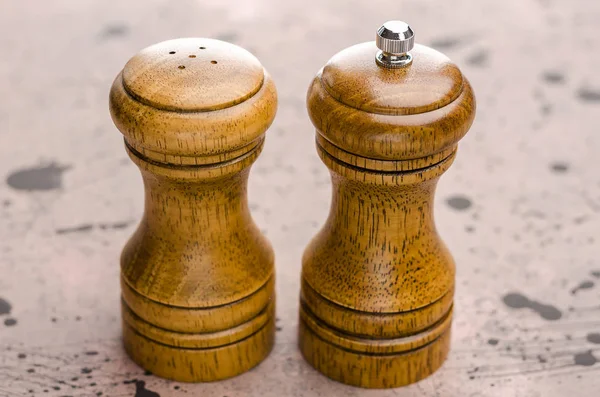
[[[329,328],[306,307],[300,310],[302,355],[329,378],[352,386],[383,389],[426,378],[450,350],[452,311],[433,327],[397,339],[363,339]]]

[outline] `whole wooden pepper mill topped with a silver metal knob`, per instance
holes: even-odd
[[[330,378],[388,388],[430,375],[448,354],[455,269],[433,196],[475,99],[407,24],[377,33],[335,55],[308,90],[333,199],[303,257],[299,337]]]

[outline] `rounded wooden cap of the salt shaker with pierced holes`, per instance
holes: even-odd
[[[258,59],[220,40],[164,41],[127,62],[110,113],[130,150],[169,164],[213,164],[251,151],[272,123],[275,85]]]

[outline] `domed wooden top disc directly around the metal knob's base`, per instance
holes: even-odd
[[[377,51],[369,41],[333,55],[320,78],[327,93],[350,108],[399,116],[442,108],[462,92],[459,68],[433,48],[417,43],[411,50],[415,62],[397,70],[373,63]]]

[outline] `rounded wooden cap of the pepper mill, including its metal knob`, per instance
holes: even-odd
[[[376,42],[342,50],[318,72],[307,106],[329,154],[422,159],[414,162],[417,168],[453,152],[475,117],[473,91],[445,55],[413,40],[407,24],[386,22]],[[408,51],[412,61],[384,64]]]

